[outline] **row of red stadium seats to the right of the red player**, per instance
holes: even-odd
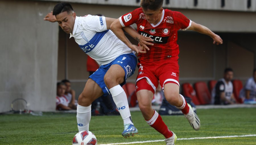
[[[192,99],[195,105],[207,105],[211,103],[211,92],[214,88],[216,80],[209,81],[209,88],[205,82],[196,82],[194,88],[190,83],[182,84],[182,94]],[[241,80],[233,80],[233,93],[237,103],[243,103],[239,98],[239,92],[243,88]]]

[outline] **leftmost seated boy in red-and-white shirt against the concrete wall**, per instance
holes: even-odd
[[[57,83],[57,96],[56,96],[56,110],[71,110],[75,109],[69,105],[69,101],[64,96],[66,91],[66,85],[63,82]]]

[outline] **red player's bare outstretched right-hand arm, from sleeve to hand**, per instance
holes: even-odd
[[[213,33],[210,29],[208,29],[207,27],[197,24],[195,22],[192,21],[191,26],[188,28],[188,30],[194,30],[197,31],[199,33],[202,34],[206,34],[208,36],[210,36],[213,39],[213,44],[222,44],[223,40],[220,38],[220,36],[216,35],[215,33]]]

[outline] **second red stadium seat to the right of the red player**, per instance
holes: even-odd
[[[201,105],[210,104],[211,102],[211,95],[207,88],[207,85],[205,82],[196,82],[194,85],[197,99],[199,100]]]

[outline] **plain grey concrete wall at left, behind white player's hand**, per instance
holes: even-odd
[[[53,6],[0,1],[0,112],[16,98],[34,111],[55,110],[58,26],[43,20]]]

